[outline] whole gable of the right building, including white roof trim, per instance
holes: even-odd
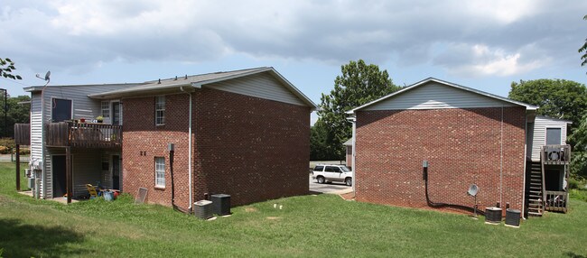
[[[427,78],[412,86],[396,91],[386,97],[356,107],[348,114],[358,110],[393,109],[441,109],[525,106],[528,110],[537,106],[527,105],[506,97],[489,94],[473,88],[446,82],[437,78]]]

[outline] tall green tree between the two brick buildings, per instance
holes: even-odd
[[[392,83],[387,70],[381,71],[377,65],[367,65],[363,60],[350,61],[340,70],[342,75],[334,79],[331,94],[321,96],[320,117],[314,126],[325,131],[322,132],[325,135],[321,136],[325,152],[342,160],[345,151],[342,143],[352,136],[352,125],[347,121],[345,112],[386,96],[399,87]]]

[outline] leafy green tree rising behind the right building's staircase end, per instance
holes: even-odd
[[[587,111],[587,88],[565,79],[535,79],[512,82],[509,98],[539,106],[538,115],[573,121],[580,124]]]

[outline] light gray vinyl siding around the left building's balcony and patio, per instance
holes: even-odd
[[[31,101],[31,166],[34,167],[38,165],[40,161],[42,161],[42,182],[41,182],[41,196],[44,198],[53,198],[53,190],[52,190],[52,173],[51,173],[51,155],[57,152],[61,152],[62,150],[52,149],[50,150],[47,147],[44,147],[42,144],[42,124],[48,123],[51,121],[51,105],[53,98],[61,98],[61,99],[70,99],[72,105],[72,118],[79,119],[79,118],[87,118],[87,119],[94,119],[96,116],[101,115],[101,106],[100,100],[90,99],[88,95],[106,92],[111,90],[116,90],[120,88],[126,88],[127,85],[84,85],[84,86],[58,86],[58,87],[47,87],[44,88],[43,98],[44,98],[44,106],[42,107],[42,99],[41,99],[41,92],[33,92],[32,93],[32,101]],[[41,115],[42,113],[42,115]],[[44,117],[44,119],[42,119]],[[44,150],[43,150],[44,147]],[[43,157],[44,151],[44,157]],[[64,152],[63,152],[64,153]],[[75,154],[75,152],[73,152]],[[74,180],[76,177],[76,173],[79,170],[85,170],[86,168],[78,167],[76,170],[74,165]],[[101,170],[99,170],[98,164],[98,179],[93,180],[94,183],[99,180]],[[83,172],[82,172],[83,173]],[[86,180],[82,175],[80,180]],[[88,183],[88,182],[86,182]],[[84,189],[85,184],[84,183]],[[75,184],[75,182],[74,182]],[[74,193],[75,191],[79,191],[79,186],[74,186]]]

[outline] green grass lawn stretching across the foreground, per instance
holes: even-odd
[[[14,163],[0,162],[5,257],[587,256],[587,202],[574,199],[568,214],[547,213],[520,228],[335,195],[282,198],[232,212],[202,221],[169,207],[134,205],[125,195],[69,206],[34,200],[15,192]]]

